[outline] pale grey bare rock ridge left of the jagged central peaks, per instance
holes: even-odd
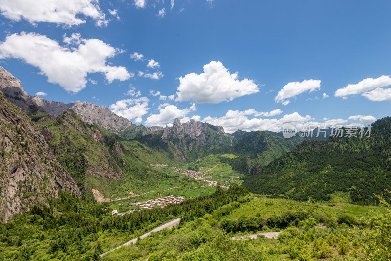
[[[94,103],[81,102],[79,100],[72,106],[73,111],[84,121],[89,124],[95,124],[109,131],[120,131],[131,125],[130,120],[118,116],[107,109],[106,106],[98,106]]]

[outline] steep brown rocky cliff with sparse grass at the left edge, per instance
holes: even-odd
[[[18,85],[18,81],[14,83]],[[40,131],[1,92],[0,129],[0,221],[28,211],[33,204],[47,204],[58,196],[59,189],[81,197]]]

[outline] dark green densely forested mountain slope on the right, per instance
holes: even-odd
[[[391,187],[391,118],[373,124],[370,137],[305,140],[293,151],[244,179],[251,192],[290,199],[330,200],[348,192],[355,204],[376,204],[376,194]]]

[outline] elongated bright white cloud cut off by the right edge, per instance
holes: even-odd
[[[375,98],[375,95],[377,93],[380,93],[382,91],[382,89],[378,90],[378,91],[375,91],[373,95],[369,94],[370,92],[367,92],[369,90],[373,90],[373,89],[379,89],[379,88],[382,88],[382,87],[387,87],[387,86],[390,86],[391,85],[391,78],[390,76],[387,76],[387,75],[382,75],[380,76],[379,78],[376,78],[376,79],[373,79],[373,78],[367,78],[367,79],[364,79],[362,80],[361,82],[357,83],[357,84],[348,84],[346,87],[343,87],[341,89],[338,89],[334,96],[336,97],[343,97],[346,99],[346,97],[348,95],[353,95],[353,94],[359,94],[359,93],[362,93],[362,92],[365,92],[363,94],[364,97],[370,99],[369,97],[371,98]]]

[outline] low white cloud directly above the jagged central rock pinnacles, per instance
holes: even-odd
[[[195,111],[195,104],[190,108],[178,109],[175,105],[164,104],[164,108],[159,107],[159,114],[152,114],[149,116],[145,124],[150,126],[165,126],[168,123],[172,123],[174,118],[185,117],[189,112]]]

